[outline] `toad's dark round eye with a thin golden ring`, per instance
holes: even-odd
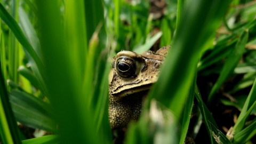
[[[119,58],[116,62],[116,71],[121,77],[132,77],[136,73],[135,62],[129,58]]]

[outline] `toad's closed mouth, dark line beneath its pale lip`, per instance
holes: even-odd
[[[127,89],[127,90],[122,90],[122,91],[116,92],[117,89],[120,88],[118,86],[117,89],[114,90],[114,91],[111,91],[110,94],[113,95],[113,96],[125,97],[125,96],[133,94],[133,93],[149,90],[151,88],[151,85],[152,84],[150,83],[150,84],[145,84],[145,85],[141,85],[141,86],[131,87],[131,89]]]

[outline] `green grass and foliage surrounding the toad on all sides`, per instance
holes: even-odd
[[[255,142],[255,8],[252,0],[2,0],[0,143],[112,143],[111,58],[169,44],[126,143],[183,143],[188,131],[197,143]]]

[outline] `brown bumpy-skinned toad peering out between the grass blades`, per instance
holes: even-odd
[[[109,122],[111,129],[137,121],[148,91],[157,81],[159,68],[169,52],[164,46],[156,53],[121,51],[113,59],[109,74]]]

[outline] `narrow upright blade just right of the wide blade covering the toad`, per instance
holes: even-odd
[[[197,69],[195,69],[197,70]],[[191,84],[188,99],[186,100],[186,107],[184,107],[181,115],[181,123],[180,123],[180,144],[183,144],[188,132],[188,126],[190,122],[190,116],[193,109],[193,103],[195,98],[195,87],[196,87],[196,77],[197,77],[197,71],[195,72],[194,81]]]

